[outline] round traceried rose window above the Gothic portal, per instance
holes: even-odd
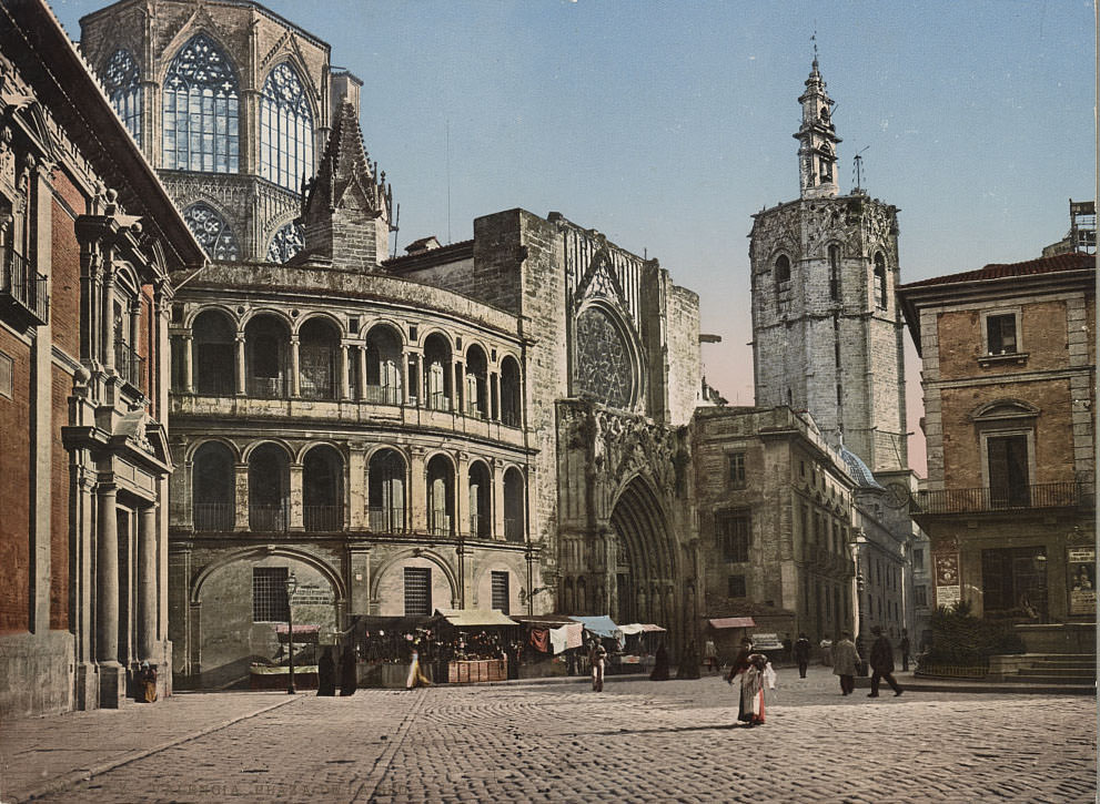
[[[634,365],[618,328],[598,307],[577,316],[576,393],[605,405],[634,401]]]

